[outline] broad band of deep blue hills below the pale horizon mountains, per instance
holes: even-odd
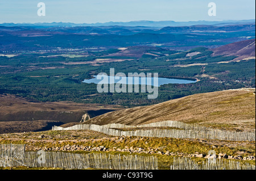
[[[217,48],[236,41],[255,39],[255,23],[249,22],[225,26],[201,24],[164,28],[143,26],[40,26],[38,28],[35,24],[34,26],[16,25],[0,26],[0,51],[119,48],[138,45],[189,50],[195,47]]]

